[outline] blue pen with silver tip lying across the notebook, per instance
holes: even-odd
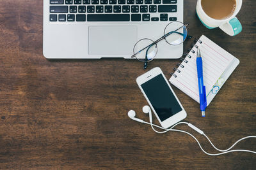
[[[202,117],[205,117],[205,108],[207,106],[207,101],[206,101],[206,92],[205,92],[204,78],[203,78],[203,60],[201,57],[199,47],[197,48],[196,67],[197,67],[198,89],[199,89],[199,97],[200,97],[200,110],[202,111]]]

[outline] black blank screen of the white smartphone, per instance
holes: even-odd
[[[182,111],[162,74],[141,84],[161,122]]]

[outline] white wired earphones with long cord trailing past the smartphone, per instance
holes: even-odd
[[[230,148],[226,149],[226,150],[220,150],[218,149],[216,146],[214,146],[211,142],[211,140],[206,136],[206,134],[204,134],[204,132],[200,129],[198,129],[198,127],[195,127],[195,125],[192,125],[188,122],[179,122],[175,125],[173,125],[172,127],[170,127],[169,129],[166,129],[164,127],[160,127],[159,125],[155,125],[155,124],[152,124],[153,120],[152,120],[152,112],[151,112],[151,109],[149,106],[144,106],[142,111],[144,113],[148,113],[148,117],[149,117],[149,123],[148,122],[145,122],[144,120],[141,120],[140,118],[136,118],[136,112],[134,110],[130,110],[128,112],[128,116],[129,118],[131,118],[132,120],[135,120],[137,122],[140,122],[142,124],[148,124],[148,125],[151,125],[152,129],[157,132],[157,133],[165,133],[165,132],[168,132],[168,131],[175,131],[175,132],[184,132],[186,134],[189,134],[189,136],[191,136],[192,138],[194,138],[196,140],[196,142],[198,143],[199,147],[201,148],[201,150],[207,154],[207,155],[211,155],[211,156],[217,156],[217,155],[222,155],[222,154],[225,154],[225,153],[229,153],[229,152],[250,152],[250,153],[255,153],[254,151],[252,150],[230,150],[231,148],[233,148],[237,143],[239,143],[240,141],[244,140],[244,139],[247,139],[247,138],[256,138],[256,136],[246,136],[244,138],[241,138],[239,140],[237,140],[232,146],[230,146]],[[190,134],[189,132],[186,132],[186,131],[182,131],[182,130],[179,130],[179,129],[173,129],[173,127],[175,127],[176,125],[179,125],[179,124],[186,124],[188,125],[189,127],[191,127],[192,129],[194,129],[196,132],[202,134],[205,136],[205,138],[207,138],[207,140],[211,143],[212,147],[216,150],[218,150],[220,153],[208,153],[208,152],[205,152],[205,150],[202,148],[202,146],[200,145],[199,141],[195,138],[195,136],[193,136],[192,134]],[[158,127],[159,129],[163,129],[164,131],[156,131],[156,129],[154,129],[154,127]]]

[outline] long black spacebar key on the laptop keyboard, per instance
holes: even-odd
[[[130,21],[129,14],[88,14],[87,21]]]

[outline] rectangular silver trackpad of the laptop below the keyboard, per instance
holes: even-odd
[[[88,53],[90,55],[132,55],[136,41],[136,26],[90,26]]]

